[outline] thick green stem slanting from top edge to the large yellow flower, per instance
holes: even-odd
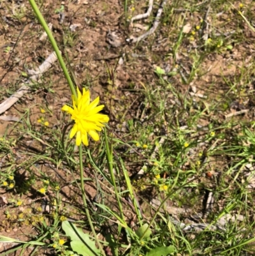
[[[75,87],[73,86],[73,81],[71,80],[71,77],[70,77],[70,75],[68,73],[68,69],[66,68],[66,64],[64,64],[64,60],[63,60],[63,58],[61,56],[61,52],[59,50],[59,47],[57,47],[57,43],[56,43],[56,41],[54,39],[54,36],[52,35],[52,32],[48,28],[48,25],[45,22],[45,19],[43,18],[43,15],[41,15],[41,12],[40,12],[38,6],[36,5],[35,1],[34,0],[29,0],[29,3],[31,4],[31,6],[32,6],[32,8],[34,10],[34,13],[36,14],[37,19],[41,23],[41,26],[43,26],[43,29],[47,33],[48,40],[50,40],[50,43],[52,44],[52,47],[55,50],[55,54],[57,55],[57,59],[59,59],[59,63],[60,63],[61,68],[62,68],[62,70],[64,72],[64,76],[66,77],[66,80],[68,81],[69,87],[71,89],[71,93],[75,97],[75,100],[77,100],[77,92],[75,90]]]

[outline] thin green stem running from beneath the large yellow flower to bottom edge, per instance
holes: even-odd
[[[101,243],[99,242],[98,236],[96,235],[96,231],[94,229],[94,225],[91,220],[91,214],[89,213],[89,209],[87,207],[86,194],[85,194],[85,190],[84,190],[84,167],[83,167],[83,163],[82,163],[82,144],[80,144],[80,146],[79,146],[79,158],[80,158],[80,186],[81,186],[81,190],[82,190],[82,200],[84,201],[85,213],[89,220],[89,225],[91,226],[91,230],[92,230],[92,233],[96,240],[96,243],[98,244],[98,247],[101,250],[102,255],[106,256],[105,252],[103,250],[103,247],[101,246]]]

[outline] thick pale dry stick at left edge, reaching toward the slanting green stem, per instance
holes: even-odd
[[[55,52],[52,52],[52,54],[45,59],[43,64],[39,66],[38,70],[34,71],[34,74],[22,84],[20,89],[0,104],[0,114],[3,114],[3,112],[10,109],[10,107],[14,105],[25,93],[28,93],[30,91],[30,87],[28,85],[33,84],[33,80],[39,81],[41,75],[43,75],[43,73],[46,72],[56,60],[57,57],[55,56]]]

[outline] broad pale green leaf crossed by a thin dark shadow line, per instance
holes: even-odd
[[[88,234],[84,234],[82,229],[78,229],[67,220],[62,222],[62,229],[71,238],[70,245],[73,251],[82,256],[101,255],[100,250],[96,248],[95,242],[89,238]]]

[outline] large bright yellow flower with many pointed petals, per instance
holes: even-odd
[[[104,114],[99,114],[98,112],[105,107],[105,105],[98,105],[99,97],[96,98],[93,102],[91,102],[91,97],[89,91],[83,89],[82,93],[80,93],[77,88],[78,99],[75,100],[73,98],[73,108],[68,105],[64,105],[62,107],[62,111],[68,112],[71,114],[71,119],[75,121],[73,128],[71,129],[70,139],[73,138],[76,134],[76,144],[80,146],[83,143],[85,146],[89,145],[89,141],[87,138],[87,133],[94,140],[99,140],[99,135],[96,131],[101,131],[101,127],[105,125],[102,123],[108,123],[109,117]]]

